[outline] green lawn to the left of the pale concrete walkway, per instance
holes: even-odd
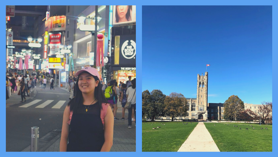
[[[171,121],[142,122],[142,151],[178,151],[197,124]],[[152,129],[153,127],[157,129]]]

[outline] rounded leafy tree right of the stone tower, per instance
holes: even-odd
[[[243,101],[236,95],[230,96],[224,103],[224,116],[229,120],[235,120],[244,110]]]

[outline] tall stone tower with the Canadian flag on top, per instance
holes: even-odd
[[[197,75],[197,104],[196,114],[198,119],[206,119],[207,117],[207,104],[208,104],[208,72],[205,75]]]

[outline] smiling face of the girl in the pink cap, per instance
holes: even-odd
[[[95,80],[91,74],[81,73],[78,80],[78,87],[82,93],[93,93],[99,81]]]

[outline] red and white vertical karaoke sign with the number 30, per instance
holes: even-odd
[[[49,54],[55,55],[60,52],[59,45],[61,44],[61,33],[49,34]]]

